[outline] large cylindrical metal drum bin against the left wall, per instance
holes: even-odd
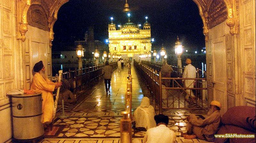
[[[13,140],[31,142],[42,139],[42,94],[8,95],[12,97]]]

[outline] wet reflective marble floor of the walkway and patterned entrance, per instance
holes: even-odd
[[[128,68],[121,72],[114,71],[111,78],[110,93],[106,94],[104,80],[81,94],[75,104],[65,105],[65,117],[62,111],[56,115],[51,131],[46,131],[45,139],[41,143],[120,143],[121,111],[124,111],[125,92]],[[139,81],[132,66],[132,109],[140,105],[143,96],[149,96],[145,85]],[[143,95],[144,94],[144,95]],[[196,115],[204,118],[204,112]],[[168,127],[177,136],[186,132],[186,110],[165,110],[169,117]],[[132,129],[132,137],[142,139],[145,132]],[[205,142],[199,139],[183,139],[177,142]]]

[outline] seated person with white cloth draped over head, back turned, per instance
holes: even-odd
[[[145,131],[156,127],[154,116],[156,115],[155,109],[150,105],[148,97],[143,97],[140,106],[134,111],[133,121],[136,123],[136,128]]]

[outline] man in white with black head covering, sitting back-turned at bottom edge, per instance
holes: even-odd
[[[174,143],[176,134],[167,127],[169,118],[163,114],[156,115],[154,118],[156,127],[148,129],[143,143]]]

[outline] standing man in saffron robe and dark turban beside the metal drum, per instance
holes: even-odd
[[[34,92],[42,92],[43,104],[42,111],[43,115],[41,122],[43,124],[50,124],[53,119],[53,94],[54,89],[61,86],[61,83],[54,83],[50,81],[44,75],[45,67],[43,62],[40,61],[35,64],[33,68],[35,75],[32,80],[31,90]]]

